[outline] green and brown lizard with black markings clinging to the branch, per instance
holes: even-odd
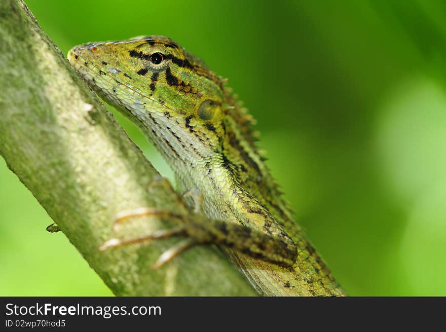
[[[195,244],[215,243],[259,294],[345,295],[294,222],[256,148],[253,119],[224,79],[157,35],[76,46],[68,59],[155,144],[172,167],[178,190],[200,192],[208,222],[184,219],[179,227],[153,234],[152,239],[185,237],[157,266]],[[130,216],[163,213],[182,218],[150,209]],[[112,240],[104,247],[121,244]]]

